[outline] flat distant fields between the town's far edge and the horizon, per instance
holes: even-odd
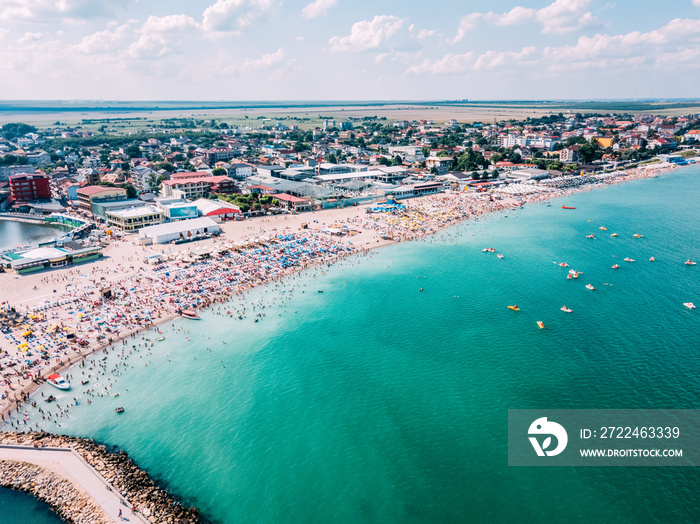
[[[551,113],[630,113],[677,116],[699,113],[700,100],[672,101],[460,101],[460,102],[0,102],[0,124],[27,122],[37,127],[80,125],[97,130],[106,125],[116,133],[158,127],[163,119],[216,119],[229,125],[260,128],[273,123],[311,129],[322,117],[386,117],[388,120],[450,119],[460,123],[523,120]],[[247,118],[246,118],[247,117]],[[89,121],[86,122],[86,121]]]

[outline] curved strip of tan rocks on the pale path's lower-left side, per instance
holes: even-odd
[[[34,464],[14,460],[0,461],[0,486],[27,491],[47,503],[68,522],[110,524],[100,506],[71,482]]]

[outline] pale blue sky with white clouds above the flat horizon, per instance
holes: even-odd
[[[5,100],[700,97],[700,0],[0,0]]]

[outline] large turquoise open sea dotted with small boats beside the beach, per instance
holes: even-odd
[[[60,427],[30,423],[125,449],[217,522],[697,520],[694,468],[509,468],[506,430],[512,408],[700,407],[682,305],[700,303],[683,264],[699,182],[689,167],[526,205],[254,290],[243,320],[208,311],[94,357],[74,384],[106,377],[51,391],[82,400]],[[88,387],[105,396],[87,405]]]

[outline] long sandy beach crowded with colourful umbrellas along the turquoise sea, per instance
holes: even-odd
[[[368,214],[367,206],[357,206],[226,222],[218,238],[189,244],[144,247],[136,235],[129,235],[112,242],[104,258],[89,264],[28,275],[2,273],[0,309],[15,308],[30,316],[0,334],[0,414],[5,420],[19,411],[50,372],[171,320],[180,309],[206,308],[290,273],[435,234],[485,213],[671,169],[651,164],[595,186],[522,197],[439,193],[405,201],[400,214]],[[344,234],[331,235],[328,228]],[[197,252],[203,249],[211,255],[201,260]],[[144,257],[154,254],[166,262],[145,264]],[[100,290],[106,287],[113,298],[103,300]],[[23,336],[28,331],[31,335]]]

